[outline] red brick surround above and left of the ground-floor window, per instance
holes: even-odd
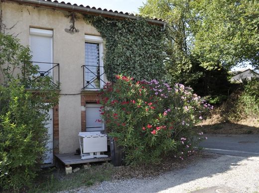
[[[83,93],[81,95],[81,106],[85,106],[87,102],[96,103],[100,100],[99,93]],[[86,111],[81,110],[81,131],[86,131]]]

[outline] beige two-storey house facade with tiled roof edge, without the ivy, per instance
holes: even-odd
[[[118,19],[138,17],[107,9],[58,2],[57,0],[0,0],[2,33],[14,34],[29,45],[32,62],[39,74],[61,83],[59,103],[49,110],[48,158],[53,154],[75,153],[82,131],[104,131],[100,119],[99,90],[106,84],[104,40],[98,30],[84,21],[84,15]],[[163,27],[159,19],[147,22]],[[100,80],[99,80],[100,78]]]

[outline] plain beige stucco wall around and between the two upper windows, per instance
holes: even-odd
[[[79,147],[81,131],[80,94],[83,88],[85,34],[100,35],[83,16],[77,14],[75,27],[79,32],[68,33],[71,22],[68,11],[2,2],[2,23],[5,33],[16,35],[21,44],[29,45],[29,28],[53,30],[53,62],[60,64],[61,97],[59,100],[59,151],[72,153]],[[11,28],[11,29],[8,29]],[[69,94],[69,95],[66,95]]]

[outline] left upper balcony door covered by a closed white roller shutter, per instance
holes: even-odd
[[[38,76],[52,77],[53,31],[30,28],[30,50],[33,65],[38,65]]]

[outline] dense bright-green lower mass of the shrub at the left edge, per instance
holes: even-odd
[[[0,186],[17,191],[31,185],[48,138],[47,109],[40,96],[26,92],[18,81],[0,86]]]

